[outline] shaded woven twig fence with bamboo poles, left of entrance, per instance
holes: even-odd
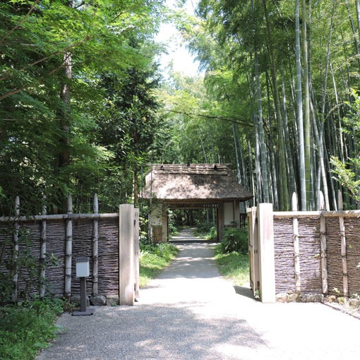
[[[87,294],[119,296],[119,213],[97,209],[95,195],[92,214],[73,214],[69,196],[67,214],[47,215],[43,208],[42,215],[21,217],[17,198],[16,216],[0,217],[0,273],[13,301],[80,294],[78,257],[90,258]]]

